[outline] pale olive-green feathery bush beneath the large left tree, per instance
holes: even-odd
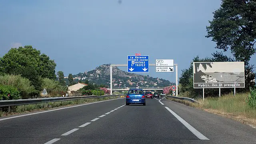
[[[0,75],[0,85],[17,88],[23,98],[29,97],[36,92],[34,86],[31,85],[30,80],[23,78],[20,75]]]

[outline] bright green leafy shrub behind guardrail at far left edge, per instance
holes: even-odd
[[[8,96],[10,94],[10,96]],[[20,91],[7,85],[0,85],[0,100],[17,100],[20,98]]]

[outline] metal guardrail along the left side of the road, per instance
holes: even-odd
[[[0,100],[0,107],[6,106],[20,106],[26,104],[40,104],[46,102],[61,102],[68,100],[81,100],[86,98],[106,98],[110,96],[124,96],[124,95],[104,95],[104,96],[70,96],[58,98],[33,98],[33,99],[20,99],[20,100]]]

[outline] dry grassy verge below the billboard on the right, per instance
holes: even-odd
[[[188,102],[185,100],[177,100],[168,98],[175,102],[180,102],[188,106],[200,108],[206,112],[218,114],[220,116],[231,118],[239,122],[256,126],[256,109],[251,108],[246,104],[246,98],[249,93],[228,94],[220,98],[205,98],[204,100],[198,99],[197,103]]]

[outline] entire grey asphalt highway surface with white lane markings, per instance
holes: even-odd
[[[256,144],[255,128],[165,98],[124,104],[121,98],[4,117],[0,144]]]

